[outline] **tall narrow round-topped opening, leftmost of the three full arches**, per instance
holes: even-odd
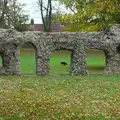
[[[36,47],[31,42],[20,49],[20,73],[36,74]]]

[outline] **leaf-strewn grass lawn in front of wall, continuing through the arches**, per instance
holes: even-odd
[[[33,52],[21,52],[21,73],[35,73]],[[1,76],[0,120],[120,120],[120,76],[105,76],[101,52],[88,52],[90,76],[69,75],[70,53],[53,53],[50,75]],[[93,75],[100,74],[100,75]]]

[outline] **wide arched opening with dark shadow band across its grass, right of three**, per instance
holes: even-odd
[[[89,49],[87,51],[87,64],[89,74],[103,74],[105,55],[102,50]]]

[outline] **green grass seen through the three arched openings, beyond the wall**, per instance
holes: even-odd
[[[50,60],[50,74],[69,74],[70,71],[70,58],[71,52],[68,51],[55,51]],[[28,62],[29,61],[29,62]],[[66,61],[69,65],[63,66],[61,61]],[[105,58],[101,51],[91,50],[87,56],[88,70],[91,74],[103,73]],[[26,52],[21,51],[21,73],[22,74],[35,74],[35,53],[34,51]]]

